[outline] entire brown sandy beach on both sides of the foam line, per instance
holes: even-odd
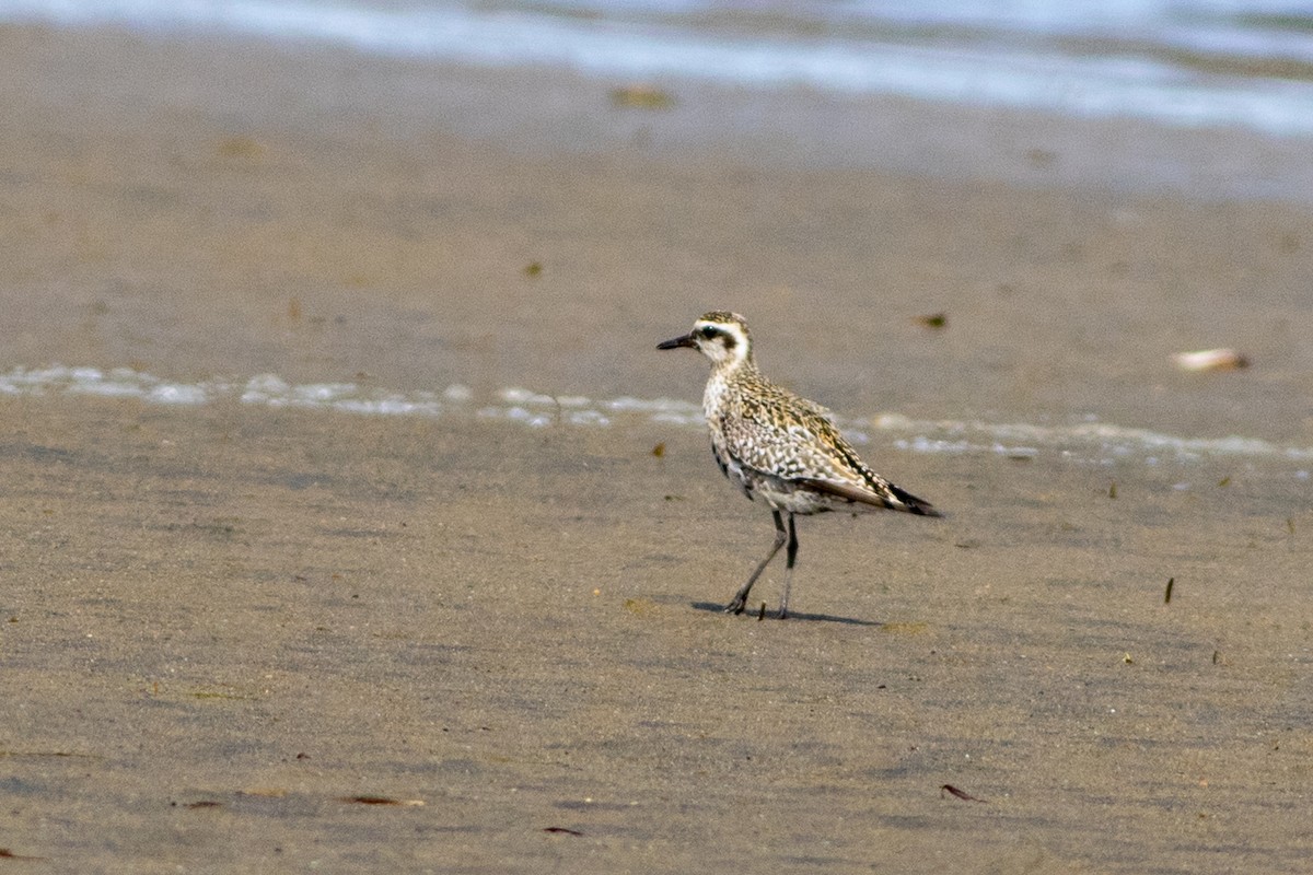
[[[525,153],[370,102],[433,87],[406,64],[0,43],[5,81],[38,83],[0,93],[7,366],[696,397],[701,362],[651,345],[729,304],[771,373],[851,415],[1087,403],[1308,439],[1297,207],[689,157],[603,87],[603,123],[634,130]],[[943,335],[911,320],[937,310]],[[1262,365],[1173,374],[1204,337]],[[0,846],[39,858],[14,866],[1295,872],[1313,851],[1313,516],[1262,466],[876,442],[949,517],[802,521],[780,623],[717,610],[769,517],[684,428],[0,407]]]

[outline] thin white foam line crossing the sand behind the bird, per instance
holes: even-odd
[[[0,374],[0,395],[28,397],[118,397],[143,404],[201,405],[234,400],[252,407],[297,408],[353,416],[474,415],[548,428],[570,425],[607,428],[617,418],[646,418],[676,428],[704,428],[701,408],[692,401],[668,397],[620,396],[592,400],[582,395],[548,395],[521,387],[504,388],[492,403],[474,404],[474,392],[453,383],[441,392],[361,387],[356,383],[293,384],[277,374],[259,374],[246,380],[179,383],[129,367],[16,367]],[[1117,459],[1197,462],[1207,457],[1283,459],[1313,462],[1313,447],[1281,446],[1262,438],[1230,436],[1195,438],[1163,434],[1086,420],[1069,425],[987,422],[982,420],[914,420],[882,413],[864,420],[840,420],[839,426],[855,443],[871,443],[872,433],[888,436],[888,445],[907,453],[945,455],[1002,455],[1031,459],[1044,454],[1111,464]],[[1301,472],[1308,478],[1308,472]]]

